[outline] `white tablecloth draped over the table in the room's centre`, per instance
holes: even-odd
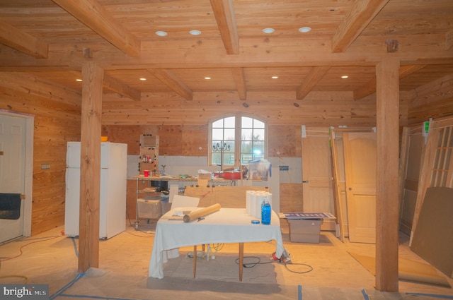
[[[221,208],[200,222],[190,223],[167,220],[173,213],[173,210],[167,212],[157,222],[149,277],[164,278],[164,263],[179,256],[178,247],[275,240],[275,256],[283,253],[280,219],[274,211],[269,225],[251,224],[255,218],[245,208]]]

